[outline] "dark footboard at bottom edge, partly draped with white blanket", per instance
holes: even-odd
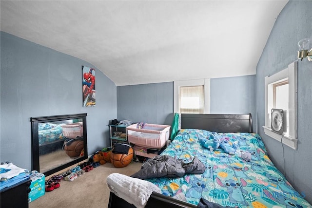
[[[165,196],[160,193],[152,193],[145,208],[197,208],[197,206]],[[136,208],[125,200],[110,192],[108,208]]]

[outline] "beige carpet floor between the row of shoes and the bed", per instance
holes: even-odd
[[[72,182],[61,181],[58,189],[45,192],[30,202],[29,208],[107,208],[110,193],[107,176],[114,172],[130,176],[140,170],[141,166],[142,163],[132,162],[127,167],[115,168],[112,163],[106,163]]]

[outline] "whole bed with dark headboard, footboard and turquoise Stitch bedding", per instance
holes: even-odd
[[[196,156],[206,170],[178,178],[146,179],[162,194],[153,193],[145,207],[196,208],[201,198],[224,207],[311,207],[273,165],[252,126],[251,114],[181,114],[181,130],[161,155],[185,162]],[[226,139],[235,152],[203,147],[200,138],[212,134]],[[242,158],[243,152],[251,153],[251,161]],[[173,198],[179,193],[185,195],[186,202]],[[134,208],[112,192],[108,207]]]

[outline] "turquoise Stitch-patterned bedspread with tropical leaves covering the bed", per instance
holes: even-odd
[[[209,138],[205,130],[181,130],[162,155],[170,155],[185,162],[197,156],[206,165],[203,174],[187,174],[182,178],[148,179],[163,194],[175,196],[182,192],[189,203],[197,205],[199,199],[230,207],[254,208],[308,208],[312,207],[304,193],[295,191],[268,157],[261,137],[255,133],[219,133],[236,144],[233,155],[222,149],[210,151],[198,139]],[[241,158],[241,151],[252,153],[252,160]]]

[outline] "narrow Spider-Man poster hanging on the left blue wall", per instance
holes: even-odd
[[[83,107],[96,106],[96,70],[82,66]]]

